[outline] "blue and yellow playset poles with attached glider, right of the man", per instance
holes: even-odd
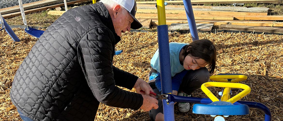
[[[178,95],[172,95],[171,84],[171,67],[170,67],[170,55],[169,55],[169,37],[168,26],[166,25],[165,5],[164,0],[157,0],[157,13],[158,13],[158,48],[159,48],[159,61],[160,61],[160,77],[162,94],[166,95],[165,99],[162,99],[164,120],[174,120],[174,103],[199,103],[193,107],[193,113],[196,114],[209,114],[215,117],[215,121],[224,121],[225,117],[229,115],[245,115],[249,114],[249,108],[260,109],[265,112],[265,121],[271,121],[271,112],[263,104],[258,102],[238,101],[250,92],[250,87],[245,84],[239,84],[235,82],[246,80],[245,75],[240,74],[224,74],[211,76],[211,80],[219,82],[207,82],[201,86],[201,89],[209,98],[198,97],[184,97]],[[196,22],[194,20],[194,14],[192,10],[192,4],[190,0],[183,0],[185,11],[188,19],[190,33],[192,40],[198,40],[198,32],[196,29]],[[207,89],[209,86],[224,87],[224,91],[220,93],[222,96],[219,100]],[[244,89],[239,94],[231,96],[231,88]]]

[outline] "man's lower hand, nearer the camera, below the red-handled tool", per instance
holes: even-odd
[[[158,101],[157,99],[150,97],[149,95],[143,95],[143,104],[141,105],[140,109],[143,111],[149,111],[151,109],[157,109],[158,108]]]

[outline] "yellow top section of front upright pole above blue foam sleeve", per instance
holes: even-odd
[[[164,0],[156,0],[156,2],[157,2],[158,25],[166,25]]]

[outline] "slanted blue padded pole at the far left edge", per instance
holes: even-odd
[[[7,24],[5,19],[2,17],[1,12],[0,12],[0,24],[1,24],[1,30],[5,29],[7,33],[12,37],[12,39],[15,42],[19,42],[20,39],[17,37],[17,35],[14,33],[14,31],[11,29],[11,27]]]

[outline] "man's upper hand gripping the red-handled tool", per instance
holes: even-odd
[[[138,94],[142,94],[142,95],[146,94],[156,98],[155,95],[149,93],[149,91],[153,92],[153,89],[149,86],[149,84],[146,81],[142,80],[141,78],[138,78],[136,84],[134,85],[134,88],[136,88]],[[141,90],[145,91],[145,93],[140,92]]]

